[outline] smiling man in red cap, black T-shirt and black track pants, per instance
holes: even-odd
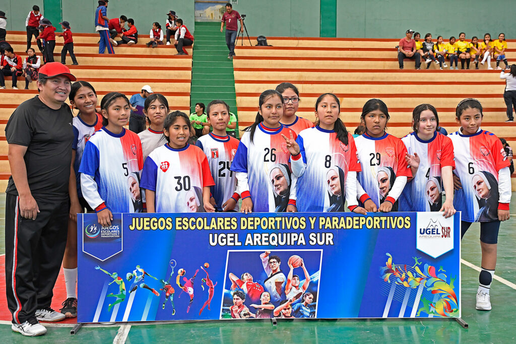
[[[72,111],[65,101],[75,77],[66,65],[39,70],[39,95],[12,113],[5,128],[11,177],[6,190],[7,305],[12,330],[39,336],[39,321],[65,315],[50,308],[67,240],[72,165]]]

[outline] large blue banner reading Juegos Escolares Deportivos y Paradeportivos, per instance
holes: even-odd
[[[460,317],[460,214],[78,216],[78,321]]]

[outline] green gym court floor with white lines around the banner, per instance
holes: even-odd
[[[186,323],[128,323],[85,325],[70,335],[73,325],[47,325],[46,335],[23,337],[0,322],[4,343],[514,343],[516,342],[516,192],[512,193],[511,219],[503,222],[498,236],[498,262],[491,289],[490,312],[475,309],[480,266],[479,226],[473,225],[462,241],[463,329],[453,320],[270,320],[202,321]],[[5,194],[0,194],[0,236],[4,237]],[[5,254],[4,240],[0,254]],[[6,308],[7,305],[0,304]]]

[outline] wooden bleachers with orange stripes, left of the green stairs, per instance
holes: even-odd
[[[79,65],[71,65],[67,56],[68,67],[77,79],[88,81],[95,88],[99,105],[102,97],[108,92],[117,91],[130,97],[139,93],[143,85],[150,85],[154,92],[167,98],[170,109],[189,112],[190,85],[192,67],[192,48],[186,47],[188,55],[174,56],[174,46],[160,45],[148,48],[141,37],[138,44],[114,47],[115,55],[98,54],[99,35],[74,34],[74,52]],[[7,41],[16,54],[25,58],[26,32],[8,31]],[[54,60],[61,61],[61,37],[56,37]],[[36,41],[32,46],[38,51]],[[37,94],[36,83],[29,84],[29,90],[23,90],[25,80],[18,78],[18,88],[11,89],[10,77],[6,77],[6,89],[0,90],[0,189],[5,190],[10,175],[7,159],[7,141],[5,125],[14,109],[23,101]],[[76,114],[76,113],[75,113]]]

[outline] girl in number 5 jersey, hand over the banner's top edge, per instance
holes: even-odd
[[[139,171],[143,157],[138,135],[124,128],[131,114],[127,97],[109,92],[101,108],[104,126],[88,140],[79,173],[84,199],[106,227],[111,225],[113,212],[142,212]]]

